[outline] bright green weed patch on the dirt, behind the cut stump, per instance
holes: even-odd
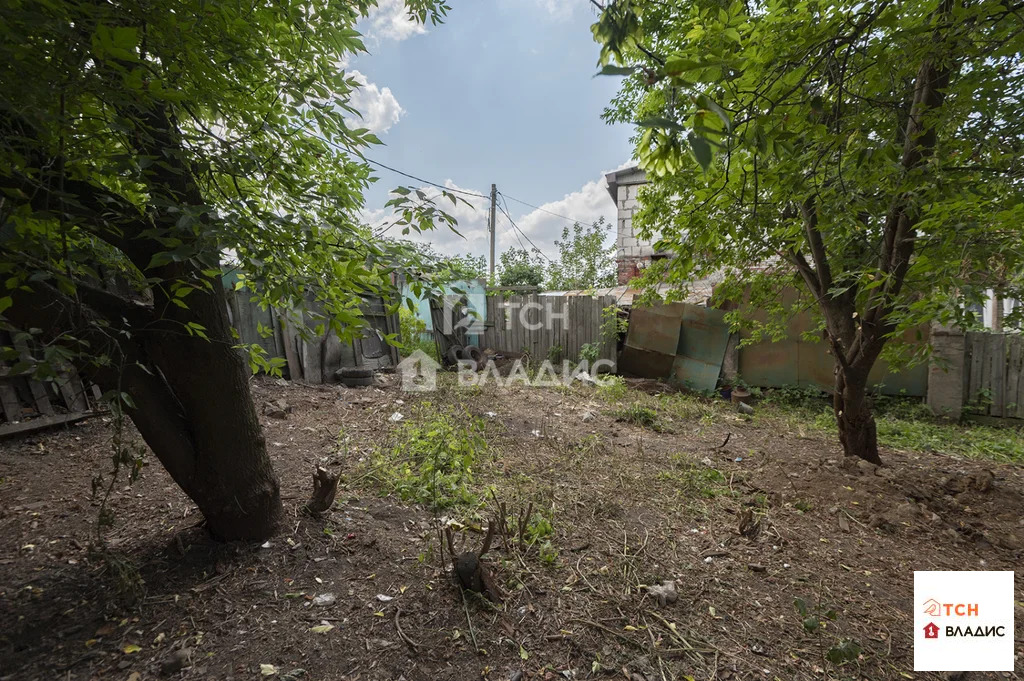
[[[374,455],[373,474],[404,501],[435,510],[476,506],[473,465],[487,452],[483,432],[482,420],[424,402]]]

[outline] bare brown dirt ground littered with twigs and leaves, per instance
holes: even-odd
[[[264,419],[288,522],[263,546],[209,541],[151,455],[111,499],[103,559],[91,490],[109,420],[0,442],[0,679],[947,678],[912,671],[912,572],[1019,568],[1022,467],[895,451],[881,469],[848,465],[770,410],[745,419],[636,387],[625,399],[654,406],[655,428],[617,420],[587,385],[417,395],[255,380],[261,412],[292,408]],[[501,605],[454,585],[445,512],[385,495],[368,468],[421,400],[483,423],[487,505],[447,512],[466,545],[496,499],[550,521],[544,549],[496,541]],[[300,512],[316,465],[343,475],[323,518]],[[675,602],[648,593],[665,580]],[[1018,574],[1017,672],[956,678],[1021,677],[1022,587]],[[859,654],[827,662],[844,641]]]

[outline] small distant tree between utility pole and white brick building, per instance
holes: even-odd
[[[614,286],[615,249],[604,239],[610,226],[600,218],[584,229],[579,222],[562,227],[562,240],[556,241],[558,260],[548,265],[547,287],[552,291],[575,291]]]

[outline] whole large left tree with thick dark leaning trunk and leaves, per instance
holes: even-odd
[[[346,124],[358,83],[338,66],[364,49],[371,6],[0,9],[0,314],[38,348],[19,369],[75,363],[222,539],[282,518],[222,263],[265,304],[315,299],[341,333],[361,325],[361,295],[390,295],[400,254],[353,217],[379,140]],[[409,9],[436,23],[447,7]],[[453,222],[409,188],[389,205],[407,231]]]

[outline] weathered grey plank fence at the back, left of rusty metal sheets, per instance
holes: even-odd
[[[593,343],[598,358],[614,361],[616,339],[601,336],[602,310],[614,304],[613,296],[488,296],[480,344],[539,360],[577,360],[583,346]]]

